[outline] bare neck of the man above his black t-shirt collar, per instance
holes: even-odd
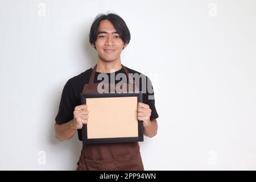
[[[111,73],[111,69],[114,69],[114,71],[118,71],[121,68],[122,68],[122,65],[121,65],[120,57],[119,59],[114,61],[104,61],[99,57],[96,72]]]

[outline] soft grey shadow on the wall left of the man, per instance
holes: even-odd
[[[80,39],[78,40],[81,40],[80,45],[81,45],[82,52],[84,52],[84,54],[80,60],[78,60],[77,62],[74,61],[74,64],[76,64],[77,67],[84,67],[84,69],[82,69],[83,70],[82,72],[86,71],[86,69],[89,69],[90,67],[93,67],[95,64],[97,64],[97,57],[98,57],[97,51],[92,46],[90,46],[90,43],[89,43],[89,28],[90,28],[90,24],[85,23],[85,26],[81,28],[81,31],[77,32],[77,35],[75,35],[75,36],[79,36]],[[76,57],[74,59],[76,59]],[[77,73],[76,75],[79,75],[79,74],[80,73]],[[54,90],[52,89],[53,92],[50,92],[51,93],[50,97],[53,97],[51,99],[51,102],[52,102],[53,110],[55,111],[53,113],[55,114],[51,115],[51,121],[49,121],[50,124],[49,124],[49,130],[48,130],[49,131],[48,141],[51,144],[51,146],[54,148],[53,149],[54,152],[59,152],[59,151],[71,152],[72,156],[68,156],[67,158],[64,159],[64,160],[68,160],[67,162],[70,163],[70,165],[61,167],[61,169],[75,170],[76,163],[79,160],[80,152],[82,149],[82,142],[78,139],[77,133],[69,141],[60,142],[55,138],[55,131],[54,131],[55,117],[59,109],[60,98],[61,98],[61,93],[62,93],[64,84],[65,83],[56,84],[61,86],[57,86]],[[65,154],[67,153],[65,152]],[[57,156],[58,154],[55,154],[55,155]],[[64,162],[63,164],[66,164],[66,162]]]

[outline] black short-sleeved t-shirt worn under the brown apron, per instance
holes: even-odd
[[[153,87],[150,79],[147,76],[142,75],[137,71],[134,71],[133,69],[127,68],[127,70],[129,73],[133,73],[133,74],[137,73],[138,75],[141,75],[140,81],[139,81],[139,84],[137,84],[137,87],[139,88],[139,91],[142,92],[142,102],[150,106],[150,109],[151,109],[150,119],[158,118],[158,113],[156,112],[156,108],[155,108],[154,91],[153,91]],[[85,72],[82,72],[80,75],[72,77],[67,81],[67,83],[63,88],[63,92],[61,94],[59,112],[57,113],[55,118],[55,121],[57,124],[67,123],[71,121],[71,119],[73,119],[74,117],[73,111],[76,106],[81,105],[80,94],[82,93],[82,89],[84,88],[84,85],[88,84],[91,73],[92,73],[92,68],[87,69]],[[106,75],[108,75],[109,77],[109,83],[111,81],[110,75],[114,74],[116,76],[118,73],[125,74],[125,71],[122,68],[116,72],[106,73]],[[96,72],[95,74],[95,77],[94,77],[95,83],[102,81],[102,80],[98,80],[99,74],[100,74],[99,72]],[[143,77],[146,78],[144,79],[146,80],[146,90],[145,90],[145,86],[142,85]],[[129,79],[127,78],[127,76],[126,76],[126,80],[127,80],[127,83],[129,83]],[[122,78],[121,78],[121,81],[122,81]],[[118,82],[120,82],[120,80],[115,79],[115,83],[118,83]],[[81,138],[79,137],[79,139]]]

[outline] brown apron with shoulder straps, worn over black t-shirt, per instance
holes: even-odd
[[[98,83],[94,83],[94,77],[96,72],[96,67],[90,75],[89,83],[84,85],[82,93],[98,93],[97,86]],[[127,78],[129,78],[129,84],[127,84],[127,91],[133,90],[138,91],[133,78],[130,77],[129,72],[126,67],[122,65]],[[109,90],[115,84],[109,85]],[[121,87],[122,88],[122,87]],[[118,92],[118,90],[115,90]],[[77,162],[77,171],[81,170],[106,170],[106,171],[144,171],[141,152],[139,151],[138,142],[130,143],[104,143],[104,144],[82,144],[82,151]]]

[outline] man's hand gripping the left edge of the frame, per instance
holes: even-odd
[[[87,105],[76,106],[73,112],[74,119],[72,120],[71,127],[73,129],[81,129],[82,124],[86,124],[88,122],[88,113]]]

